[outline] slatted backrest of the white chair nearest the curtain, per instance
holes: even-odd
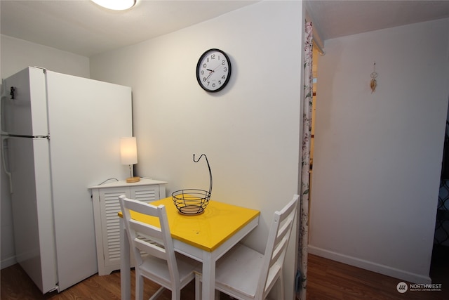
[[[269,230],[267,247],[264,252],[264,264],[260,273],[255,299],[265,299],[282,270],[286,256],[288,241],[296,218],[298,195],[288,202],[281,211],[274,212],[274,218]]]

